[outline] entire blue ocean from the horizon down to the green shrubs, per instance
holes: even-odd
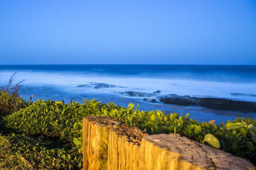
[[[256,102],[256,66],[234,65],[0,65],[0,87],[10,76],[23,80],[20,95],[29,99],[54,99],[83,102],[97,99],[127,107],[129,102],[140,110],[162,110],[169,114],[190,113],[199,121],[217,123],[237,116],[254,117],[256,113],[185,107],[143,101],[145,96],[130,96],[126,91],[154,93],[150,98],[168,94],[227,98]]]

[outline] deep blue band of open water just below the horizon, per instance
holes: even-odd
[[[0,65],[9,71],[80,72],[98,75],[126,75],[198,79],[225,82],[256,82],[255,65]]]

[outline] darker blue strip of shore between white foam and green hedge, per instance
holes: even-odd
[[[119,106],[127,107],[129,103],[134,103],[135,107],[139,106],[139,110],[161,110],[165,114],[170,114],[177,112],[180,115],[190,114],[191,118],[198,120],[199,122],[209,122],[210,120],[216,120],[216,124],[226,122],[228,120],[233,120],[235,118],[244,117],[256,118],[255,112],[239,112],[235,110],[214,110],[206,109],[200,106],[179,106],[175,104],[164,104],[162,102],[150,102],[144,101],[143,97],[134,98],[129,95],[122,95],[120,93],[78,93],[78,91],[73,90],[72,88],[54,88],[49,86],[44,87],[34,87],[34,88],[25,88],[23,85],[20,89],[20,95],[24,99],[29,99],[30,95],[33,94],[32,101],[36,99],[50,99],[55,101],[64,100],[65,103],[69,103],[72,99],[73,102],[84,102],[84,99],[97,99],[102,103],[114,102]]]

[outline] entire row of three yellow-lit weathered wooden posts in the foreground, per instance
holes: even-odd
[[[179,134],[148,135],[109,117],[83,119],[83,169],[255,169],[247,160]]]

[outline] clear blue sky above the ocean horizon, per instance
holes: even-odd
[[[0,1],[0,64],[256,64],[256,1]]]

